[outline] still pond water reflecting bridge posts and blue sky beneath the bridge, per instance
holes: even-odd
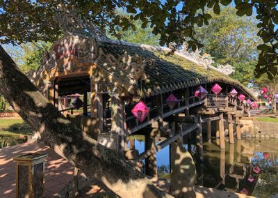
[[[156,142],[160,141],[161,139],[156,139]],[[195,159],[196,185],[256,197],[278,196],[277,146],[278,139],[241,139],[234,144],[226,141],[226,149],[220,149],[219,139],[212,139],[211,142],[204,142],[204,161],[201,163],[196,159],[195,145],[190,142],[184,145]],[[140,153],[144,151],[142,136],[135,137],[135,147]],[[167,146],[156,155],[158,176],[168,180],[169,154]],[[259,170],[258,174],[256,170]]]

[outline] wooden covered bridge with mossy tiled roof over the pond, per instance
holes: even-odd
[[[234,145],[234,133],[241,139],[240,119],[247,112],[243,102],[229,93],[236,89],[254,98],[242,84],[217,69],[190,61],[181,53],[165,56],[168,52],[164,47],[65,36],[51,47],[33,82],[83,131],[135,165],[145,160],[146,174],[157,176],[156,152],[171,145],[176,153],[186,135],[195,135],[200,160],[204,160],[202,133],[208,141],[212,135],[218,137],[224,149],[227,128],[229,143]],[[215,83],[222,88],[218,95],[211,91]],[[197,98],[195,91],[201,86],[208,94]],[[177,100],[169,105],[171,93]],[[68,107],[72,97],[79,98],[75,101],[79,110]],[[131,112],[139,100],[149,109],[142,121]],[[128,146],[130,135],[145,136],[144,152]],[[157,144],[155,137],[165,140]]]

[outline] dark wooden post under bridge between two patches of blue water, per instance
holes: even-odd
[[[156,163],[156,141],[154,137],[145,135],[145,151],[151,149],[152,155],[145,159],[145,174],[152,177],[157,177],[157,163]]]

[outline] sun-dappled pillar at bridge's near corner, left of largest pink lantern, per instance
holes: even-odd
[[[119,94],[111,97],[111,131],[119,136],[119,153],[124,155],[124,100]]]

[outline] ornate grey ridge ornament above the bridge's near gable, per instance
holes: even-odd
[[[57,10],[56,20],[66,36],[84,36],[87,38],[95,38],[96,40],[111,40],[92,21],[82,17],[74,6],[70,8],[66,4],[59,3]]]

